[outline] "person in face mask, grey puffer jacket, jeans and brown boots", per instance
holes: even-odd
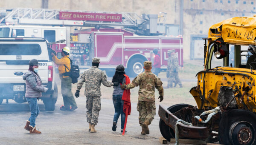
[[[38,60],[32,59],[29,61],[29,71],[25,72],[22,77],[26,81],[25,97],[31,111],[24,129],[29,131],[30,134],[41,134],[41,131],[35,128],[35,119],[40,112],[37,99],[42,97],[42,92],[46,92],[48,88],[42,85],[42,80],[38,75]]]

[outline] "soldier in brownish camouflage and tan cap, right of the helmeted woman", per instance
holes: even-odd
[[[151,64],[150,61],[145,61],[145,71],[135,77],[130,84],[121,85],[122,89],[131,89],[140,85],[137,111],[139,111],[139,123],[142,126],[141,134],[143,135],[149,134],[148,125],[151,124],[154,115],[156,115],[154,88],[157,88],[159,92],[158,99],[160,98],[160,102],[163,100],[163,83],[160,78],[151,72]]]

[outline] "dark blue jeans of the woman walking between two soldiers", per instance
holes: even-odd
[[[117,123],[119,115],[121,114],[121,129],[124,129],[125,125],[125,113],[123,111],[124,108],[124,101],[122,100],[122,95],[113,95],[113,104],[115,107],[115,114],[114,114],[114,122]]]

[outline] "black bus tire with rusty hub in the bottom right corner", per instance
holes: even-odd
[[[256,145],[255,120],[255,114],[242,109],[232,109],[223,113],[218,131],[220,144]]]

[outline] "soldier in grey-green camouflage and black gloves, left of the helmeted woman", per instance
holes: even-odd
[[[96,132],[94,126],[98,123],[100,103],[100,85],[101,83],[107,87],[119,85],[118,82],[108,82],[107,76],[99,67],[99,58],[93,58],[92,67],[84,71],[81,80],[77,84],[76,97],[79,97],[80,89],[85,82],[84,95],[86,96],[87,122],[89,123],[89,131]]]

